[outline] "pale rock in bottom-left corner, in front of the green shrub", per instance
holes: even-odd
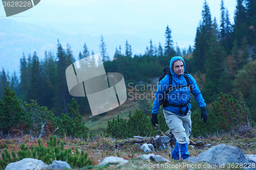
[[[9,163],[6,170],[41,170],[45,163],[41,160],[24,158],[18,162]]]

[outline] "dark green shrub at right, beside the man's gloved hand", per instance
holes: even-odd
[[[220,92],[218,102],[212,102],[212,110],[208,113],[207,122],[204,124],[201,120],[199,109],[191,114],[191,121],[193,122],[191,130],[193,137],[236,131],[244,126],[250,129],[254,126],[241,92],[239,100],[234,99],[230,94]]]

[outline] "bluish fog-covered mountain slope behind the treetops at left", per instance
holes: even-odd
[[[32,56],[36,52],[39,59],[44,59],[45,51],[51,51],[56,56],[57,39],[63,48],[66,48],[67,43],[70,44],[76,60],[78,60],[79,52],[83,50],[84,43],[87,44],[90,54],[92,50],[95,54],[100,52],[100,35],[90,34],[90,31],[68,33],[49,26],[35,26],[4,18],[0,18],[0,26],[0,70],[2,68],[6,72],[8,70],[9,76],[13,74],[14,70],[19,75],[19,60],[23,53],[26,58],[28,54]],[[164,30],[165,28],[163,28],[163,37],[159,39],[164,39]],[[132,45],[133,55],[143,55],[146,46],[150,45],[150,38],[146,40],[129,34],[107,34],[103,35],[103,38],[111,60],[116,47],[119,45],[121,45],[121,51],[124,53],[126,39]],[[159,41],[153,41],[153,44],[158,46]],[[164,42],[161,42],[161,45],[163,46]]]

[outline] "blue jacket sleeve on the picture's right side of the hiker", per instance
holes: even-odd
[[[195,99],[199,105],[199,107],[206,107],[205,101],[203,99],[203,95],[201,93],[201,91],[199,90],[199,87],[197,85],[196,80],[189,75],[189,78],[191,79],[191,93],[195,96]]]

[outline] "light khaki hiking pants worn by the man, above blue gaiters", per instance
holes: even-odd
[[[177,142],[181,144],[189,142],[189,136],[191,134],[191,111],[189,110],[185,116],[179,116],[164,109],[163,114],[166,124],[173,132]]]

